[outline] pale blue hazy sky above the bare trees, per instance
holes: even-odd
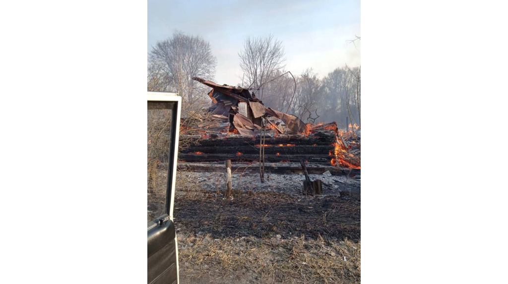
[[[148,51],[175,30],[210,42],[218,84],[239,84],[244,39],[269,33],[282,40],[294,75],[312,67],[323,77],[345,63],[360,65],[360,47],[347,43],[361,36],[360,0],[148,0]]]

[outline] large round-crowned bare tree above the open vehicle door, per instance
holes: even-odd
[[[175,32],[171,37],[157,42],[149,54],[152,69],[158,70],[152,74],[152,83],[165,82],[155,85],[176,91],[182,97],[182,114],[187,108],[201,107],[205,93],[209,90],[204,85],[193,80],[193,77],[213,79],[217,59],[213,56],[210,44],[201,36],[187,35]],[[149,76],[150,77],[150,76]],[[150,83],[150,78],[149,78]]]

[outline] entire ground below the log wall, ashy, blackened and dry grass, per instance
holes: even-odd
[[[179,172],[181,283],[360,283],[360,176]]]

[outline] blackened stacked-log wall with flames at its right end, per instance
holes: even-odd
[[[360,148],[356,145],[357,142],[351,141],[350,144],[346,142],[350,137],[337,136],[335,123],[315,126],[308,135],[276,134],[272,130],[263,143],[261,133],[256,130],[254,133],[253,136],[245,136],[207,129],[201,135],[181,135],[180,139],[190,146],[181,150],[179,158],[194,163],[224,162],[227,159],[236,163],[251,163],[259,161],[260,145],[265,145],[263,148],[267,163],[298,162],[303,158],[310,163],[327,166],[360,167]],[[337,146],[340,146],[341,151],[336,155]]]

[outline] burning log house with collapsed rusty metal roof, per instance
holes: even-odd
[[[360,169],[360,143],[354,126],[346,132],[334,122],[305,124],[295,115],[264,106],[251,90],[193,79],[212,88],[208,95],[213,104],[208,111],[217,124],[200,130],[200,135],[182,133],[192,146],[181,151],[180,160],[252,163],[259,161],[262,153],[266,163],[303,159],[309,164]],[[242,103],[246,110],[239,111]]]

